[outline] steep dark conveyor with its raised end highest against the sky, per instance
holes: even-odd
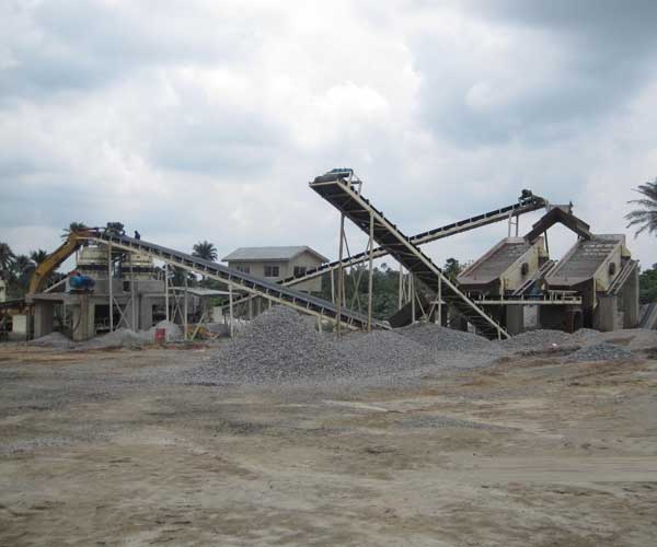
[[[508,333],[500,325],[445,277],[440,268],[416,244],[412,243],[410,237],[401,233],[345,178],[337,176],[333,181],[325,181],[325,177],[318,177],[315,182],[310,183],[310,187],[365,233],[370,231],[371,219],[373,240],[431,292],[438,293],[440,284],[442,301],[457,309],[479,334],[487,338],[508,338]]]

